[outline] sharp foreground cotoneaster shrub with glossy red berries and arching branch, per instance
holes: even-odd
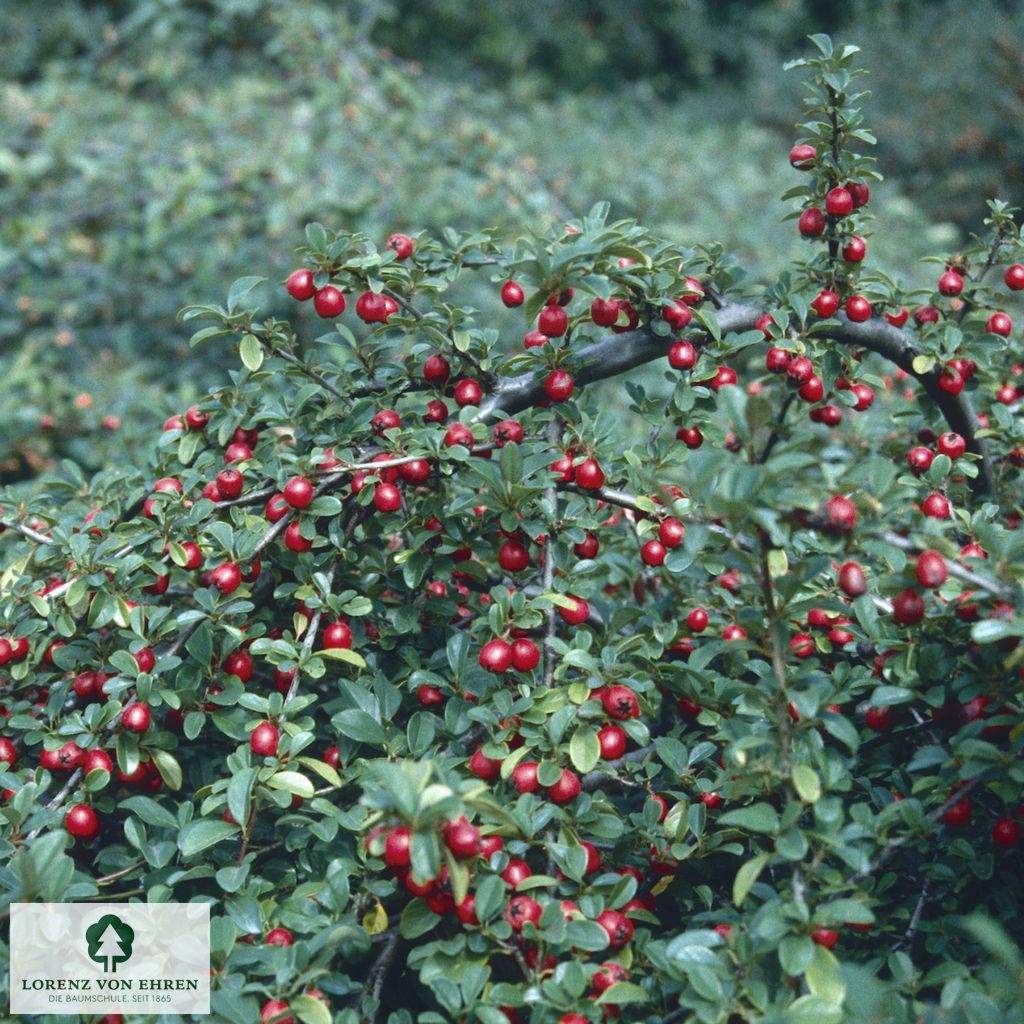
[[[767,289],[314,222],[147,459],[0,499],[5,898],[209,901],[224,1021],[1022,1019],[1024,246],[883,273],[814,43]]]

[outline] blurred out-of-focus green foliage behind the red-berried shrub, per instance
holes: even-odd
[[[871,70],[884,269],[914,280],[983,197],[1024,199],[1009,0],[49,0],[4,22],[0,482],[115,462],[205,391],[217,352],[182,361],[176,310],[283,278],[311,219],[511,238],[609,199],[769,281],[800,252],[781,66],[808,32]]]

